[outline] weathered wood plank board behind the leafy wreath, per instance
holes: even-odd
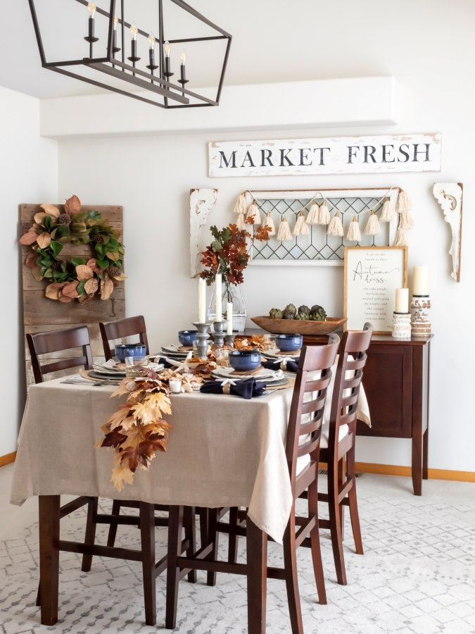
[[[56,205],[63,213],[64,205]],[[82,205],[81,211],[100,211],[103,218],[110,220],[110,225],[120,231],[120,242],[123,243],[123,211],[121,206],[116,205]],[[43,211],[39,204],[20,205],[20,223],[22,235],[26,233],[33,224],[34,214]],[[89,336],[91,337],[91,347],[94,361],[104,361],[101,334],[99,332],[100,321],[113,321],[125,317],[125,286],[124,282],[119,282],[109,299],[101,299],[99,294],[89,302],[80,304],[70,302],[63,304],[55,302],[45,296],[44,290],[51,280],[43,279],[40,282],[34,279],[31,268],[25,266],[25,258],[31,253],[31,247],[21,247],[22,267],[23,267],[23,323],[25,335],[30,332],[46,332],[48,330],[60,330],[73,325],[87,325]],[[72,257],[82,257],[89,259],[94,257],[94,249],[89,245],[64,244],[58,259],[70,260]],[[25,339],[25,364],[27,389],[34,383],[30,352]],[[122,340],[117,340],[118,343]],[[110,342],[113,344],[113,342]],[[70,359],[75,356],[82,356],[82,349],[71,349],[57,352],[48,356],[42,356],[42,362],[48,360]],[[51,378],[58,376],[75,374],[79,368],[68,368],[68,370],[54,373]]]

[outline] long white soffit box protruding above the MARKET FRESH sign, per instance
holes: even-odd
[[[217,108],[169,111],[101,93],[42,99],[40,133],[64,139],[386,126],[398,123],[398,101],[395,77],[226,86]]]

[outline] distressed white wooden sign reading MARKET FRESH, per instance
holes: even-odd
[[[437,172],[440,133],[209,144],[210,176]]]

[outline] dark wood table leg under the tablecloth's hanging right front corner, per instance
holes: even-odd
[[[247,519],[248,634],[265,634],[267,534]]]

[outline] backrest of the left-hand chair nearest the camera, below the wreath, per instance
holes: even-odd
[[[86,370],[92,370],[91,341],[87,326],[77,328],[65,328],[65,330],[51,330],[51,332],[39,332],[37,335],[26,336],[28,348],[32,358],[32,367],[35,383],[43,383],[43,375],[76,366],[84,366]],[[60,359],[53,363],[40,366],[38,355],[49,352],[59,352],[70,348],[82,346],[82,356],[74,359]]]

